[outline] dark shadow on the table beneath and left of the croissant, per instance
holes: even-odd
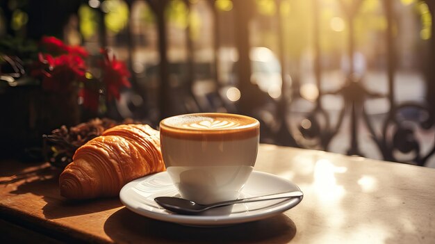
[[[97,213],[122,206],[122,203],[117,197],[85,201],[66,200],[65,197],[60,196],[58,176],[56,175],[45,175],[28,179],[22,184],[19,184],[17,188],[10,193],[16,195],[31,193],[33,195],[42,196],[42,200],[46,202],[46,204],[42,206],[42,213],[47,219]]]

